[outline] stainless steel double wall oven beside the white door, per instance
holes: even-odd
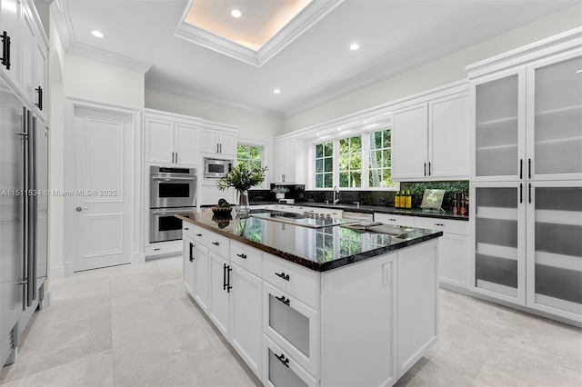
[[[149,242],[182,239],[174,215],[196,211],[196,169],[150,166],[149,187]]]

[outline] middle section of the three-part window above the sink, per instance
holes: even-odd
[[[362,186],[362,136],[339,140],[339,186]]]

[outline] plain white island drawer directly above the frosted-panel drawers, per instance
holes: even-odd
[[[319,273],[265,253],[263,279],[302,303],[319,309]]]

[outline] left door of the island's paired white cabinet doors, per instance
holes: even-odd
[[[232,268],[229,262],[220,255],[209,252],[210,263],[210,293],[208,300],[208,317],[215,323],[216,328],[226,337],[230,338],[228,331],[229,319],[229,294]]]

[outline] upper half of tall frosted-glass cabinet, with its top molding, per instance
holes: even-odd
[[[471,180],[582,178],[582,29],[467,67]]]

